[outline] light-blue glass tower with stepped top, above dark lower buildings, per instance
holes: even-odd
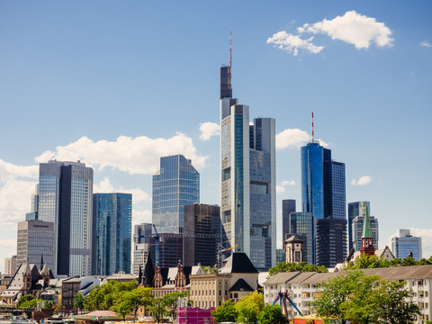
[[[183,155],[160,158],[153,175],[153,224],[159,233],[184,232],[184,206],[200,202],[200,174]]]

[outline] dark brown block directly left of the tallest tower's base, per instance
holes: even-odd
[[[217,265],[221,238],[219,206],[184,206],[184,266]]]

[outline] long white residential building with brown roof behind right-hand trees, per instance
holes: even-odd
[[[350,270],[347,270],[350,271]],[[339,275],[346,275],[347,271],[341,270],[336,273],[319,274],[315,272],[301,273],[289,272],[279,273],[269,278],[264,284],[265,304],[275,301],[277,293],[281,290],[291,293],[293,303],[302,311],[303,315],[310,315],[313,311],[310,302],[320,296],[320,284]],[[432,319],[431,287],[432,266],[394,266],[373,269],[360,269],[365,275],[379,275],[382,280],[405,281],[405,288],[412,291],[409,301],[419,306],[417,324],[422,324]],[[299,315],[293,305],[287,302],[288,317],[292,319]]]

